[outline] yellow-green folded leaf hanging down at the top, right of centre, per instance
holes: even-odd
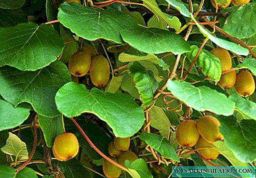
[[[163,13],[162,10],[158,7],[156,0],[142,0],[142,1],[143,1],[143,5],[146,8],[148,8],[148,10],[150,10],[152,13],[154,13],[157,23],[163,24],[163,21],[165,22],[165,29],[167,27],[167,24],[171,28],[174,28],[176,31],[178,29],[180,29],[181,23],[180,23],[179,19],[175,16],[171,16],[169,14]],[[154,27],[156,27],[156,26],[154,26]]]

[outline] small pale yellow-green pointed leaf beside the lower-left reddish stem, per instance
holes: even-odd
[[[6,140],[6,145],[1,148],[5,154],[15,156],[15,160],[26,160],[28,158],[26,143],[21,141],[15,134],[9,132],[9,137]]]

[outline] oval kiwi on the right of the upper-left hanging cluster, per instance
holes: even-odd
[[[109,80],[110,68],[108,60],[100,55],[92,59],[90,77],[93,84],[97,87],[104,87]]]

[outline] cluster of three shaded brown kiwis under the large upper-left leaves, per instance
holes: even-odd
[[[97,55],[90,45],[83,45],[69,58],[68,69],[75,77],[85,76],[90,72],[92,83],[99,88],[107,85],[109,80],[108,60],[102,55]]]

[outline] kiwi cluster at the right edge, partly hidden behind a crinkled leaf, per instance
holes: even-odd
[[[229,51],[216,48],[211,52],[219,58],[222,72],[231,69],[232,61]],[[243,97],[250,96],[255,91],[254,78],[247,70],[241,70],[238,74],[235,71],[224,73],[217,84],[224,89],[234,86],[236,92]]]

